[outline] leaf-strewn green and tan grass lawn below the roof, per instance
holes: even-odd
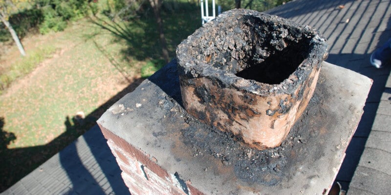
[[[200,26],[198,7],[186,6],[163,14],[172,58],[176,45]],[[117,93],[142,80],[141,68],[161,59],[155,29],[153,15],[117,23],[98,15],[73,22],[64,32],[22,40],[28,55],[52,49],[0,95],[0,192],[86,132],[120,98]],[[86,113],[86,124],[72,121],[78,111]]]

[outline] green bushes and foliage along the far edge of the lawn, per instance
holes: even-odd
[[[51,31],[63,31],[68,21],[79,20],[88,14],[98,12],[98,0],[30,0],[10,13],[9,21],[23,38],[28,32],[39,31],[47,34]],[[185,0],[163,0],[162,11],[173,12],[182,8]],[[194,3],[195,0],[187,0]],[[289,0],[241,0],[241,7],[264,11]],[[195,1],[196,2],[196,1]],[[235,8],[235,0],[217,0],[223,11]],[[147,0],[107,0],[102,13],[111,19],[134,20],[150,12]],[[0,23],[0,41],[11,36]]]

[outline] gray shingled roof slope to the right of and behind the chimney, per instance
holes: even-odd
[[[337,181],[348,194],[391,194],[390,67],[369,63],[391,38],[391,0],[293,0],[267,13],[317,28],[328,39],[327,62],[373,79]]]

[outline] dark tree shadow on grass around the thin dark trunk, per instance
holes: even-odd
[[[177,2],[173,10],[162,9],[164,33],[170,57],[174,58],[176,45],[201,26],[199,10],[195,3]],[[123,59],[162,59],[157,24],[152,9],[129,21],[117,22],[106,16],[92,16],[89,21],[115,35],[114,42],[125,41],[126,49],[121,51]]]

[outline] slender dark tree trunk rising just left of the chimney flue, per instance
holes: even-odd
[[[168,63],[170,62],[170,57],[168,54],[166,37],[164,36],[163,20],[160,17],[161,0],[149,0],[149,1],[151,3],[151,6],[153,8],[153,13],[155,14],[155,18],[156,18],[157,28],[159,31],[160,44],[162,46],[163,58],[166,61],[166,63]]]

